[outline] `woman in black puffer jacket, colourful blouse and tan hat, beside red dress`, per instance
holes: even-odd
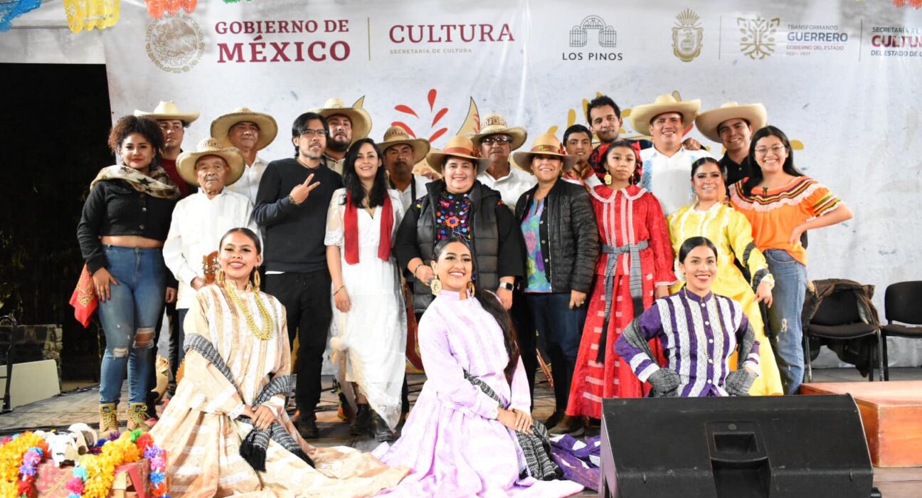
[[[526,301],[553,365],[556,408],[546,423],[557,425],[567,399],[585,324],[586,294],[598,255],[598,231],[585,187],[561,182],[573,167],[552,134],[538,136],[529,152],[516,152],[515,164],[534,173],[538,184],[515,205],[515,219],[526,244]]]

